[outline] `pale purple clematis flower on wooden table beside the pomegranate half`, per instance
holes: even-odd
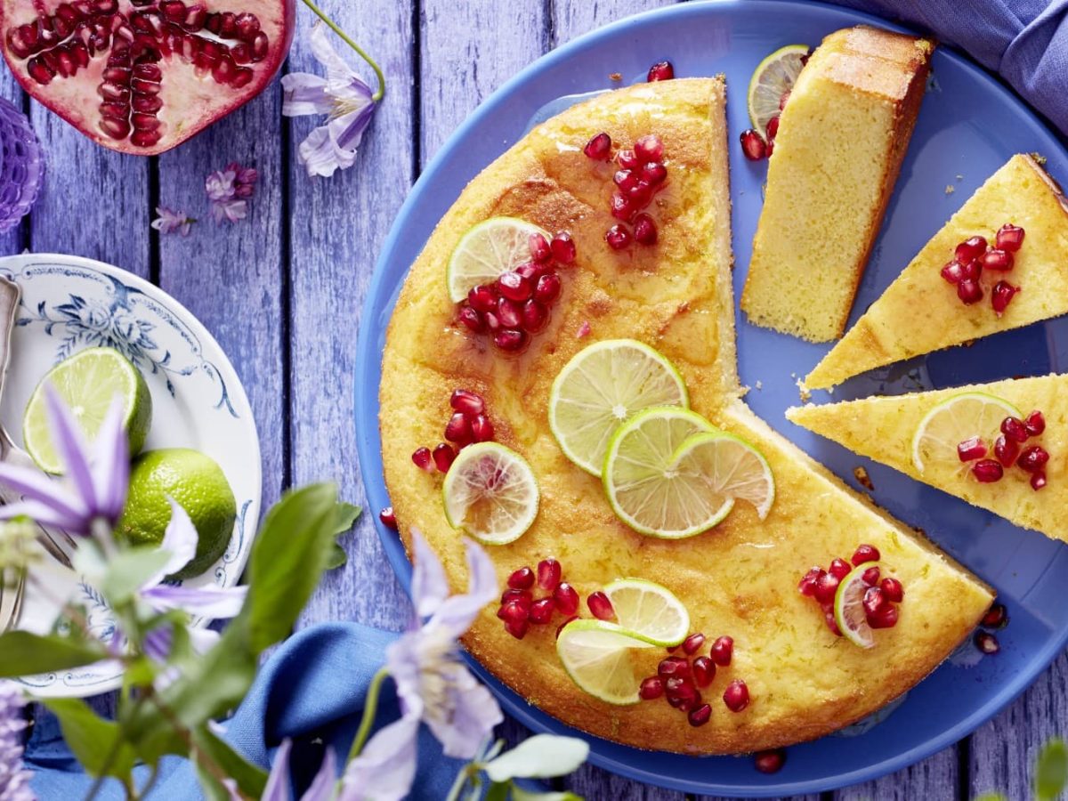
[[[286,116],[329,114],[297,148],[297,158],[311,176],[330,176],[356,163],[363,131],[371,125],[378,104],[371,88],[360,80],[330,43],[327,28],[316,23],[309,35],[312,53],[327,68],[327,77],[293,73],[282,77]]]

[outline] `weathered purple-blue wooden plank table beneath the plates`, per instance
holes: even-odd
[[[25,104],[48,155],[46,187],[3,253],[74,253],[124,267],[184,303],[219,340],[245,383],[263,449],[264,503],[286,487],[333,478],[363,500],[352,424],[356,331],[381,242],[420,170],[494,89],[557,45],[662,3],[656,0],[321,0],[378,60],[384,103],[357,164],[309,179],[295,158],[312,121],[281,115],[276,82],[256,100],[159,158],[96,146],[22,97],[2,70],[0,91]],[[298,3],[299,5],[299,3]],[[287,68],[319,72],[301,6]],[[343,51],[343,46],[339,47]],[[365,70],[370,78],[370,70]],[[230,161],[254,166],[248,220],[202,219],[188,238],[150,229],[163,204],[206,217],[204,178]],[[329,576],[301,625],[354,619],[400,629],[408,603],[386,563],[367,509],[347,540],[348,565]],[[1000,789],[1030,795],[1039,745],[1068,733],[1068,658],[954,748],[841,799],[955,799]],[[514,737],[523,736],[509,724]],[[588,799],[684,796],[593,767],[565,786]]]

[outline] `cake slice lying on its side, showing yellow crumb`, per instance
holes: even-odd
[[[752,323],[842,335],[912,136],[930,40],[859,26],[812,54],[780,119],[741,297]]]

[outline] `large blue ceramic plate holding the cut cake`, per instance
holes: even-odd
[[[827,33],[858,22],[885,26],[863,14],[800,2],[675,5],[622,20],[549,53],[484,103],[420,177],[386,241],[371,283],[360,329],[356,422],[372,507],[389,504],[381,477],[377,391],[386,324],[397,292],[426,237],[465,184],[519,139],[543,106],[562,95],[606,89],[607,76],[613,72],[621,72],[629,82],[642,80],[649,64],[664,58],[674,62],[679,76],[725,74],[737,297],[745,280],[766,169],[763,162],[748,162],[738,146],[738,135],[749,127],[745,89],[750,75],[779,47],[815,45]],[[1010,92],[946,48],[937,51],[933,66],[933,81],[857,298],[854,319],[1012,154],[1041,153],[1053,176],[1068,182],[1068,155]],[[742,381],[761,386],[748,396],[753,409],[854,483],[853,468],[865,464],[864,459],[792,426],[783,417],[788,406],[798,403],[796,378],[807,374],[827,346],[754,328],[740,313],[737,321]],[[1068,355],[1068,319],[869,374],[839,388],[835,398],[1042,374],[1058,370],[1063,355]],[[814,398],[817,403],[827,399],[824,393]],[[745,758],[643,752],[594,738],[590,738],[591,761],[642,782],[692,792],[759,797],[828,790],[890,773],[956,742],[1012,701],[1064,649],[1068,606],[1062,588],[1068,584],[1068,550],[889,468],[865,466],[878,503],[922,528],[998,588],[1012,621],[999,634],[1002,653],[984,659],[975,658],[974,651],[960,653],[918,685],[874,734],[826,737],[791,748],[785,768],[774,775],[758,773]],[[380,534],[393,568],[407,583],[410,566],[399,540],[392,532]],[[575,734],[484,673],[483,678],[507,710],[531,728]]]

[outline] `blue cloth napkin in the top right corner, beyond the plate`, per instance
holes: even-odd
[[[1068,136],[1068,0],[831,0],[933,33]]]

